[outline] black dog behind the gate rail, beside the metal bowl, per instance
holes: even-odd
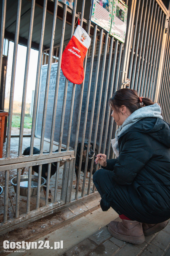
[[[64,151],[64,149],[61,149],[61,151]],[[58,152],[58,149],[55,150],[54,152]],[[49,152],[43,152],[43,153],[49,153]],[[38,148],[33,147],[33,155],[40,154],[40,150]],[[27,156],[30,155],[30,147],[26,148],[23,152],[23,155]],[[60,162],[60,166],[62,166],[64,163]],[[50,178],[52,175],[55,174],[56,172],[56,167],[57,167],[57,162],[51,163],[51,172],[50,172]],[[25,169],[25,168],[24,168]],[[24,169],[22,170],[21,175],[24,174]],[[39,165],[34,165],[32,167],[32,175],[34,175],[34,172],[39,173]],[[47,179],[47,174],[48,174],[48,164],[42,164],[42,174],[41,176],[46,180]],[[43,192],[44,196],[46,196],[46,187],[43,186]],[[51,191],[49,190],[49,196],[48,196],[48,201],[51,202]]]

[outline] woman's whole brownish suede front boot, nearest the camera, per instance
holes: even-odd
[[[132,220],[111,221],[109,233],[115,238],[132,244],[142,244],[145,241],[142,223]]]

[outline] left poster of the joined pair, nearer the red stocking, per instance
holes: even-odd
[[[112,1],[93,0],[91,21],[109,32],[112,21]]]

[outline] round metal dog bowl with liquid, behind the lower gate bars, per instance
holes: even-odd
[[[46,183],[46,180],[41,177],[41,187],[40,191],[42,190],[42,186]],[[14,177],[11,180],[11,184],[14,186],[15,193],[17,192],[17,177]],[[32,175],[31,176],[31,196],[37,195],[38,189],[38,176]],[[28,175],[21,175],[20,179],[20,196],[27,196],[28,195]]]

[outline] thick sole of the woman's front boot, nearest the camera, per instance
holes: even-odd
[[[119,240],[122,240],[122,241],[125,241],[125,242],[128,242],[128,243],[142,244],[145,241],[144,234],[141,235],[141,236],[138,236],[138,237],[136,237],[136,236],[125,236],[125,235],[121,235],[121,234],[115,232],[114,230],[112,230],[110,228],[110,226],[108,226],[108,231],[115,238],[117,238]]]

